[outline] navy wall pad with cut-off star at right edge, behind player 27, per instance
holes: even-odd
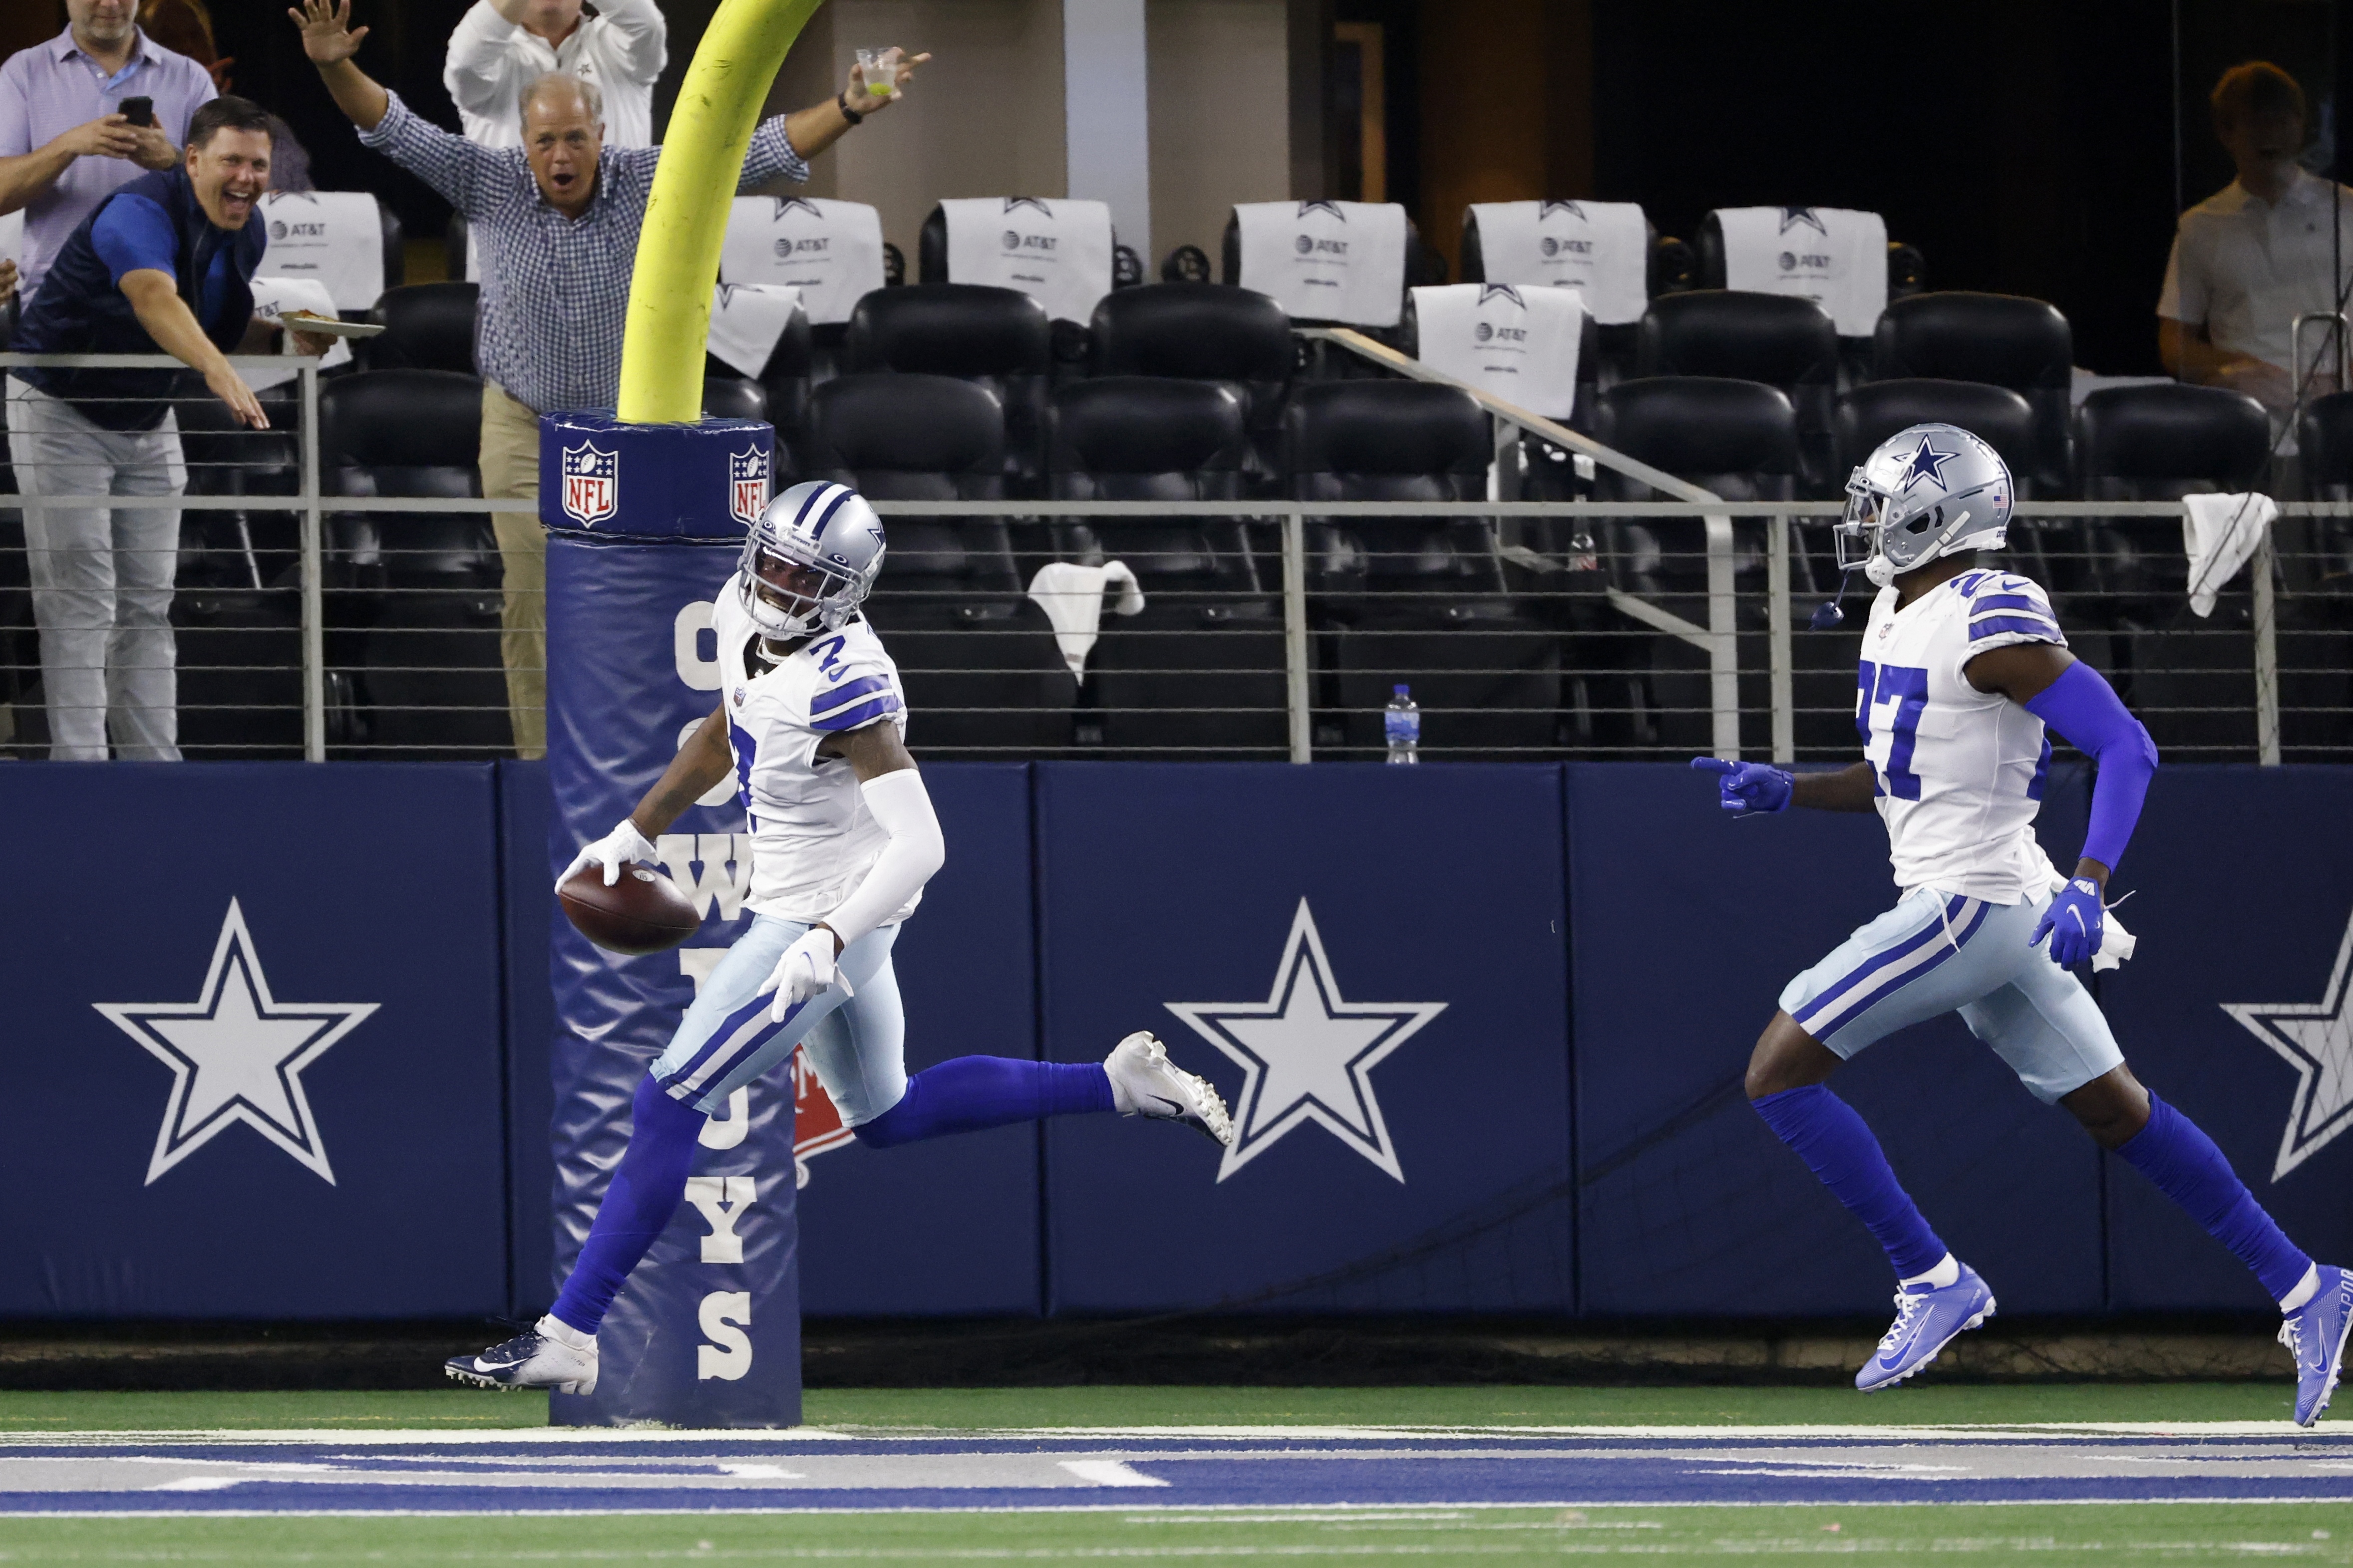
[[[2325,1262],[2353,1258],[2353,1138],[2339,1135],[2353,1126],[2348,820],[2353,769],[2162,769],[2113,884],[2113,896],[2139,889],[2120,919],[2141,952],[2101,980],[2132,1070],[2212,1133]],[[2224,1004],[2252,1004],[2266,1032],[2301,1041],[2311,1084],[2299,1091],[2294,1063]],[[2282,1152],[2297,1161],[2285,1173]],[[2266,1305],[2247,1269],[2120,1159],[2108,1246],[2120,1309]]]

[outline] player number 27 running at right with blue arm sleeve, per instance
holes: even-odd
[[[1748,1058],[1748,1100],[1859,1218],[1897,1272],[1897,1321],[1854,1378],[1894,1387],[1993,1316],[1993,1291],[1953,1258],[1897,1185],[1871,1128],[1826,1079],[1864,1046],[1958,1011],[2019,1081],[2064,1105],[2228,1246],[2280,1302],[2297,1422],[2337,1387],[2353,1274],[2313,1262],[2257,1206],[2221,1150],[2141,1086],[2108,1020],[2068,973],[2111,936],[2104,891],[2141,813],[2158,748],[2078,663],[2033,581],[1974,564],[2007,538],[2009,470],[1955,425],[1913,425],[1847,480],[1838,564],[1880,595],[1857,670],[1864,762],[1788,773],[1694,757],[1725,811],[1878,811],[1904,896],[1781,992]],[[2099,764],[2092,827],[2059,877],[2033,820],[2045,729]]]

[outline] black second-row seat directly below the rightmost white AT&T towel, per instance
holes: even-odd
[[[1838,393],[1838,327],[1809,299],[1692,289],[1654,299],[1635,343],[1638,376],[1732,376],[1779,388],[1798,414],[1798,461],[1807,489],[1835,494],[1831,402]]]

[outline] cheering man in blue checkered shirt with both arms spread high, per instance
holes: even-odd
[[[353,63],[367,28],[351,0],[304,0],[292,12],[304,54],[360,141],[433,186],[466,214],[489,254],[475,369],[482,371],[482,494],[539,498],[539,416],[612,409],[621,388],[621,324],[638,266],[638,230],[661,148],[607,148],[595,82],[548,73],[522,89],[522,148],[485,148],[419,120]],[[896,52],[892,52],[896,54]],[[816,108],[762,120],[744,155],[739,190],[769,179],[807,181],[807,158],[866,115],[896,103],[918,54],[899,61],[896,87],[866,89],[861,66],[847,89]],[[546,755],[546,543],[536,517],[496,512],[506,562],[501,654],[515,752]]]

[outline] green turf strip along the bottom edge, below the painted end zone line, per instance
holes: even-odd
[[[1937,1563],[2353,1563],[2344,1505],[1101,1509],[602,1519],[9,1519],[5,1563],[1515,1563],[1929,1554]]]

